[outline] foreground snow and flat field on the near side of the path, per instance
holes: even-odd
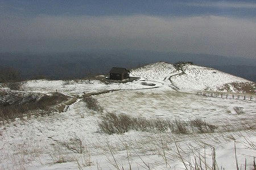
[[[125,91],[101,94],[97,99],[105,111],[136,117],[160,119],[197,117],[217,126],[225,125],[226,122],[229,122],[229,126],[240,126],[245,120],[249,123],[255,122],[255,103],[252,102],[203,99],[200,96],[189,96],[191,94],[177,92],[154,94],[152,90],[130,94],[123,92]],[[164,101],[166,101],[165,104]],[[113,103],[116,104],[113,105]],[[127,104],[124,105],[124,103]],[[233,106],[242,106],[245,114],[236,114]],[[65,113],[15,121],[1,126],[0,167],[4,169],[79,169],[81,164],[82,169],[98,167],[115,169],[114,159],[116,159],[118,166],[123,166],[125,169],[129,168],[129,162],[133,169],[141,169],[145,166],[143,161],[150,164],[151,169],[169,169],[170,167],[170,169],[184,169],[184,165],[177,156],[176,142],[188,153],[192,152],[187,151],[190,150],[188,147],[191,147],[188,144],[191,144],[192,150],[200,150],[201,154],[204,153],[204,148],[201,146],[204,146],[204,143],[209,144],[216,149],[218,166],[233,169],[236,168],[236,164],[234,164],[234,140],[230,139],[232,136],[236,139],[239,165],[244,166],[246,157],[247,167],[249,167],[253,163],[251,156],[256,156],[255,148],[250,148],[255,146],[255,130],[188,135],[129,131],[123,135],[106,135],[99,131],[100,120],[100,114],[95,114],[94,111],[86,108],[84,102],[79,101]],[[234,128],[234,130],[237,129]],[[59,146],[58,142],[68,141],[73,134],[82,138],[86,146],[84,154],[73,154],[67,148]],[[129,152],[129,162],[126,152]],[[168,168],[166,168],[163,152],[168,155],[166,158]],[[211,164],[212,151],[208,146],[206,153],[208,163]],[[183,156],[188,160],[187,154]]]

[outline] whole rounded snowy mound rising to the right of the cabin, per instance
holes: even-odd
[[[179,92],[232,92],[255,93],[256,84],[212,68],[192,64],[159,62],[131,71],[142,80],[162,82]]]

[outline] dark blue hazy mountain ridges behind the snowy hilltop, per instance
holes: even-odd
[[[168,63],[192,61],[256,82],[256,59],[129,49],[66,53],[0,53],[0,68],[14,68],[24,78],[38,76],[51,79],[81,78],[96,73],[108,73],[112,67],[130,69],[158,61]]]

